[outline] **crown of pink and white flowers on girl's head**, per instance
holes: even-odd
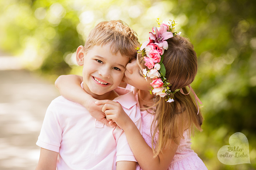
[[[150,83],[152,88],[150,94],[159,95],[160,97],[167,96],[167,102],[173,102],[173,95],[175,91],[170,90],[170,83],[165,78],[165,66],[162,63],[164,59],[164,50],[168,49],[167,39],[172,38],[175,35],[180,35],[181,32],[175,32],[175,21],[169,20],[168,23],[163,22],[160,24],[159,18],[156,20],[158,27],[153,27],[152,32],[149,32],[149,39],[145,41],[140,47],[137,48],[138,52],[141,52],[144,57],[145,66],[149,70],[143,69],[145,79],[149,77],[153,79]]]

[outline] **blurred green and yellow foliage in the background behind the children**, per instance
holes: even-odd
[[[245,8],[243,8],[245,7]],[[203,132],[192,148],[209,170],[256,169],[256,1],[251,0],[8,0],[0,1],[0,50],[30,70],[81,74],[76,47],[105,20],[121,19],[144,42],[156,18],[177,21],[198,54],[193,82],[203,102]],[[224,165],[218,150],[235,132],[249,140],[251,164]]]

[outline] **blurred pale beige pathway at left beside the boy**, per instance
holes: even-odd
[[[58,95],[52,82],[0,54],[0,170],[36,168],[37,137],[46,109]]]

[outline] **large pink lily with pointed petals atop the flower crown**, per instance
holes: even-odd
[[[149,32],[149,43],[153,40],[153,42],[159,47],[163,47],[163,49],[168,49],[167,39],[172,38],[173,34],[171,32],[167,32],[167,28],[163,25],[158,30],[156,27],[153,27],[153,32]]]

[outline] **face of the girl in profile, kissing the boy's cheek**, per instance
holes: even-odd
[[[143,75],[143,68],[138,63],[138,58],[131,60],[126,65],[126,70],[123,77],[124,82],[129,85],[134,86],[140,90],[150,90],[151,89],[151,79],[147,77],[147,80]]]

